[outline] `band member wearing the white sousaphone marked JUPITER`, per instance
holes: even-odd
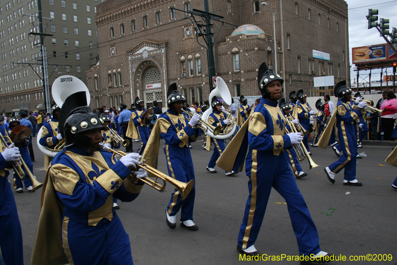
[[[58,105],[54,105],[51,107],[51,112],[53,116],[50,121],[47,121],[43,125],[43,133],[41,134],[41,138],[39,143],[42,146],[49,147],[54,149],[54,147],[62,140],[62,135],[59,133],[59,112],[61,108]],[[47,155],[44,155],[44,169],[47,171],[50,165],[50,162],[53,158]]]

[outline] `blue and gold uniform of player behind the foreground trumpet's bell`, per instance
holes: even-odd
[[[197,132],[188,126],[186,114],[169,109],[160,115],[157,122],[160,122],[161,135],[165,140],[164,153],[169,176],[182,182],[195,179],[189,143],[196,141]],[[175,189],[167,206],[168,215],[175,216],[182,209],[180,220],[193,220],[195,196],[196,184],[185,200],[181,199],[180,192]]]

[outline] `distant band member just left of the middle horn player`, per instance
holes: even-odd
[[[135,106],[136,110],[132,111],[132,122],[134,126],[136,127],[136,131],[138,133],[139,139],[140,139],[140,147],[138,148],[137,153],[141,155],[143,151],[145,150],[147,140],[149,139],[149,128],[147,127],[148,122],[151,120],[151,117],[149,117],[146,121],[146,123],[142,123],[142,115],[145,113],[146,109],[144,108],[144,103],[142,99],[139,99],[139,97],[135,98]]]

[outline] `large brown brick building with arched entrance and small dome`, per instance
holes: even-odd
[[[166,91],[174,82],[189,104],[208,100],[204,41],[196,36],[192,17],[170,7],[204,9],[203,0],[107,0],[97,6],[101,59],[87,71],[92,107],[130,104],[136,96],[146,105],[157,100],[166,107]],[[209,11],[239,26],[222,26],[218,34],[221,23],[213,21],[216,75],[232,96],[260,94],[257,71],[262,62],[275,70],[272,12],[277,72],[287,94],[298,89],[309,93],[314,77],[349,80],[344,0],[269,0],[268,5],[209,0]]]

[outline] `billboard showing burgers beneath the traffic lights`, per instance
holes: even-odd
[[[361,64],[367,62],[376,63],[397,59],[397,55],[387,43],[356,47],[352,48],[351,51],[353,64]]]

